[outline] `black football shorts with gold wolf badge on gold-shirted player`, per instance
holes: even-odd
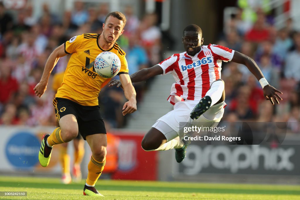
[[[79,133],[85,139],[88,135],[106,134],[100,106],[83,106],[74,101],[56,97],[53,99],[56,119],[59,122],[63,116],[73,114],[78,123]]]

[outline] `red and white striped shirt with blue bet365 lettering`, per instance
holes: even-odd
[[[173,74],[176,81],[172,85],[168,98],[171,104],[175,104],[174,97],[179,96],[188,100],[200,101],[205,96],[212,82],[221,78],[222,60],[232,60],[234,50],[220,45],[209,44],[202,46],[194,56],[187,52],[173,54],[158,65],[164,70],[164,74]]]

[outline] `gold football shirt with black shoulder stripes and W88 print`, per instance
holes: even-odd
[[[110,49],[102,49],[98,43],[99,37],[100,34],[86,33],[64,43],[64,51],[72,55],[55,97],[70,99],[84,106],[98,105],[98,94],[111,79],[99,76],[94,69],[94,60],[103,51],[117,54],[121,60],[119,74],[128,74],[125,52],[117,43]]]

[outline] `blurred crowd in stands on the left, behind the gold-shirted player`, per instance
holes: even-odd
[[[64,72],[69,56],[61,57],[53,69],[46,93],[38,98],[33,88],[40,81],[47,58],[59,45],[74,35],[101,33],[109,13],[109,4],[87,7],[75,2],[74,9],[65,11],[62,18],[50,12],[43,4],[42,15],[33,17],[32,5],[12,14],[0,2],[0,124],[55,125],[52,100],[57,87],[52,86],[55,74]],[[156,26],[157,16],[146,14],[140,20],[128,5],[123,10],[126,30],[118,43],[126,52],[130,74],[152,66],[161,60],[161,31]],[[55,81],[56,82],[56,81]],[[144,84],[135,84],[138,99]],[[103,88],[99,95],[104,119],[113,128],[125,124],[122,89]]]

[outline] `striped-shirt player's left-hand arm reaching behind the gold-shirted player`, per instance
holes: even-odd
[[[163,73],[164,73],[164,70],[160,66],[155,65],[153,67],[144,68],[144,69],[141,69],[141,70],[135,72],[134,74],[130,75],[130,79],[131,79],[132,83],[137,83],[137,82],[145,81],[153,76],[160,75]],[[110,83],[108,84],[109,87],[114,86],[114,85],[116,85],[117,87],[120,87],[120,86],[122,87],[122,83],[120,80],[113,80],[113,81],[110,81]]]

